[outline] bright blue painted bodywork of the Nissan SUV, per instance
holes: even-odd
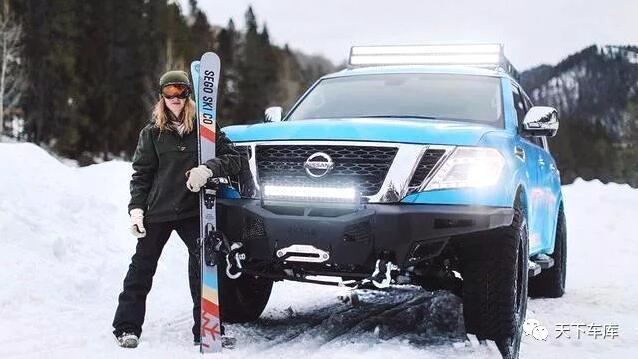
[[[378,66],[350,69],[326,75],[322,79],[386,73],[446,73],[499,77],[503,96],[504,128],[441,120],[344,118],[230,126],[224,131],[235,142],[342,140],[495,148],[505,160],[495,185],[480,189],[425,191],[409,195],[402,202],[512,207],[516,194],[520,191],[523,194],[523,203],[527,206],[530,253],[532,255],[541,252],[552,253],[558,208],[562,202],[560,177],[551,154],[518,133],[519,119],[512,96],[512,90],[515,88],[512,84],[515,81],[507,74],[495,70],[436,66]],[[316,83],[306,94],[312,91],[314,86]],[[300,98],[300,101],[306,94]],[[514,154],[515,148],[524,150],[524,160]],[[232,190],[229,190],[226,193],[228,196],[238,196],[236,191],[232,193]]]

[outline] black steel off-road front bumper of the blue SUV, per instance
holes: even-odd
[[[262,207],[254,199],[218,199],[218,225],[244,244],[253,262],[303,264],[317,272],[370,273],[380,256],[402,268],[438,256],[448,240],[512,223],[513,209],[464,205],[366,204],[356,210]],[[310,245],[321,263],[285,262],[277,251]]]

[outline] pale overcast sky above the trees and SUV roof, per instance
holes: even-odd
[[[519,70],[591,44],[638,45],[638,0],[199,0],[224,26],[243,27],[249,4],[273,42],[335,64],[355,44],[500,42]]]

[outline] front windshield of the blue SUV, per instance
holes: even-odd
[[[480,122],[502,126],[497,77],[377,74],[324,79],[288,121],[390,117]]]

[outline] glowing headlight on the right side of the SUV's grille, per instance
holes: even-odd
[[[504,163],[494,148],[457,147],[425,190],[492,186],[498,182]]]

